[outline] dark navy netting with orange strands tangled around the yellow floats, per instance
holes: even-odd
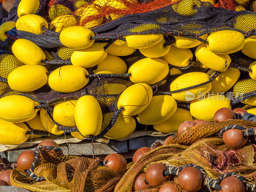
[[[203,43],[208,43],[200,38],[204,34],[220,30],[236,30],[245,35],[245,38],[256,34],[255,26],[248,26],[248,23],[254,23],[256,16],[254,12],[223,9],[222,7],[232,9],[233,1],[218,1],[213,5],[209,2],[198,0],[180,0],[180,1],[128,1],[128,0],[107,0],[87,2],[82,0],[41,0],[38,11],[35,13],[44,17],[48,22],[48,28],[42,28],[44,32],[41,35],[36,35],[30,32],[17,30],[13,28],[7,32],[7,39],[1,45],[1,57],[4,55],[12,55],[11,46],[13,42],[19,38],[28,39],[37,44],[46,55],[46,59],[41,62],[48,70],[48,75],[57,68],[65,65],[72,65],[71,54],[73,49],[67,48],[61,44],[59,36],[60,30],[68,26],[87,26],[90,28],[95,37],[92,39],[95,42],[104,43],[104,49],[116,40],[125,41],[127,35],[137,34],[164,34],[165,46],[175,42],[175,36],[183,36],[191,39],[197,39]],[[86,12],[86,16],[84,13]],[[14,5],[9,13],[9,17],[4,21],[17,21],[17,6]],[[194,52],[195,48],[191,48]],[[241,51],[229,54],[232,60],[231,67],[245,71],[246,74],[250,69],[248,66],[255,61],[245,56]],[[12,55],[13,56],[13,55]],[[135,62],[146,58],[136,50],[131,55],[120,56],[130,68]],[[15,60],[16,58],[12,59]],[[18,61],[17,61],[18,62]],[[2,65],[2,64],[1,64]],[[23,95],[39,102],[41,105],[36,108],[45,108],[50,118],[54,106],[62,101],[69,99],[78,99],[83,95],[92,95],[99,102],[102,114],[103,123],[101,131],[97,136],[90,136],[88,139],[102,138],[108,130],[115,124],[118,114],[121,109],[116,106],[120,94],[133,83],[129,80],[130,73],[125,74],[94,74],[93,68],[86,68],[89,75],[89,83],[82,89],[72,93],[60,93],[52,90],[47,84],[33,92],[17,92],[9,89],[6,74],[10,73],[17,64],[13,61],[8,62],[8,69],[0,71],[1,86],[0,98],[8,95]],[[20,63],[22,65],[22,63]],[[203,72],[207,73],[210,69],[203,68],[199,61],[196,61],[195,56],[188,61],[188,66],[177,67],[169,65],[170,69],[178,69],[181,73]],[[5,74],[5,75],[4,75]],[[170,91],[170,84],[180,75],[168,74],[163,80],[156,84],[150,85],[153,90],[153,95],[171,95],[172,93],[185,91],[210,83],[220,74],[220,72],[211,70],[210,80],[202,84],[197,84],[191,87]],[[248,76],[247,76],[248,77]],[[241,79],[243,81],[243,79]],[[245,80],[244,80],[245,81]],[[236,84],[236,87],[243,87],[245,84]],[[247,84],[246,84],[247,86]],[[248,86],[251,86],[248,84]],[[235,88],[235,87],[234,87]],[[253,90],[244,91],[243,97],[235,95],[230,98],[231,105],[235,105],[242,100],[254,96],[256,93]],[[236,92],[236,89],[233,89]],[[241,91],[239,89],[239,91]],[[189,102],[180,102],[180,105],[185,105],[188,109]],[[184,104],[185,103],[185,104]],[[58,124],[53,119],[52,121],[58,125],[59,129],[64,132],[77,132],[77,127],[66,127]],[[30,131],[33,131],[30,129]],[[46,134],[42,131],[34,131],[34,134]]]

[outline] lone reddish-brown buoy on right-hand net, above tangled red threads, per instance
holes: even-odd
[[[228,147],[234,149],[243,147],[248,141],[248,137],[244,137],[244,132],[240,129],[229,129],[225,131],[222,139]]]

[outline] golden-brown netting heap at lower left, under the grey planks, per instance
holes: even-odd
[[[38,146],[27,173],[11,173],[12,186],[35,192],[111,192],[122,175],[100,165],[99,159],[64,156],[60,148]],[[100,179],[99,179],[100,178]]]

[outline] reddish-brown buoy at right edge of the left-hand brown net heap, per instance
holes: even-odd
[[[117,153],[106,156],[104,162],[108,168],[120,174],[123,174],[127,167],[125,158]]]

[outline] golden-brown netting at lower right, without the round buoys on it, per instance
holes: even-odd
[[[255,191],[256,145],[249,142],[244,147],[234,150],[225,145],[221,138],[223,132],[229,129],[243,130],[245,136],[256,135],[255,128],[252,128],[256,125],[256,116],[247,113],[243,118],[190,127],[173,135],[164,146],[155,142],[152,150],[144,154],[125,173],[115,192],[135,191],[133,186],[136,178],[154,163],[166,165],[164,175],[172,174],[174,177],[172,181],[164,183],[174,184],[179,192],[185,190],[179,186],[175,176],[187,166],[196,167],[202,172],[204,187],[201,192],[221,190],[220,181],[228,176],[238,177],[244,182],[247,191]],[[158,192],[162,185],[139,191]]]

